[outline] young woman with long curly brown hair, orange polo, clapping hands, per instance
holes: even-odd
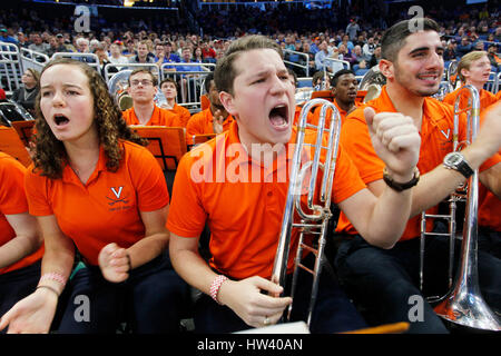
[[[98,72],[48,63],[36,127],[26,188],[45,239],[41,278],[0,329],[114,333],[127,322],[135,333],[176,332],[187,286],[167,254],[165,178]],[[77,249],[86,268],[69,279]]]

